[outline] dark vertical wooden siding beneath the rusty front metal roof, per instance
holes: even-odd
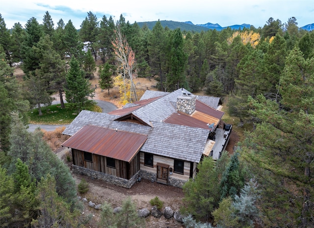
[[[83,151],[72,149],[72,155],[74,165],[124,179],[130,179],[140,169],[139,153],[134,156],[130,163],[115,159],[115,168],[107,166],[105,156],[92,154],[92,162],[90,162],[85,161]]]

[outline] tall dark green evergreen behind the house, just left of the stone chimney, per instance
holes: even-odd
[[[173,91],[184,87],[188,89],[185,67],[187,54],[183,50],[183,37],[180,28],[173,31],[170,50],[170,73],[167,76],[167,91]]]

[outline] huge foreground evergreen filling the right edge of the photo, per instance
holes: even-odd
[[[249,100],[251,114],[260,122],[247,135],[242,153],[263,186],[260,206],[266,225],[313,226],[312,61],[305,60],[302,52],[294,48],[280,78],[280,103],[262,95]],[[295,220],[296,214],[300,215],[299,220]]]

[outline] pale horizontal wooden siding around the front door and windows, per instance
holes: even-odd
[[[143,171],[157,174],[157,163],[169,165],[169,168],[173,169],[174,159],[172,158],[154,155],[153,160],[154,160],[154,167],[144,165],[144,152],[140,152],[140,164],[141,164],[140,169]],[[184,162],[183,174],[177,174],[177,173],[172,172],[172,175],[169,175],[169,177],[180,179],[180,180],[188,180],[190,177],[190,162],[186,162],[186,161]]]

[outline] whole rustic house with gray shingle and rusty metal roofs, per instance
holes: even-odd
[[[220,126],[219,98],[147,90],[110,113],[81,111],[63,131],[73,170],[131,188],[141,178],[182,187],[203,156],[217,160],[231,125]]]

